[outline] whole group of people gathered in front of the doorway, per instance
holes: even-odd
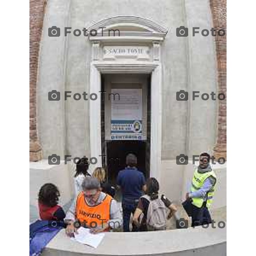
[[[211,223],[208,208],[212,202],[216,176],[205,158],[210,160],[209,154],[201,154],[190,192],[186,195],[192,209],[192,226]],[[173,215],[178,218],[177,207],[164,195],[159,195],[157,179],[150,177],[146,180],[143,172],[137,169],[134,154],[126,156],[126,167],[118,173],[116,188],[106,182],[104,168],[97,167],[92,175],[87,171],[88,163],[86,159],[81,159],[74,176],[76,196],[67,214],[58,205],[58,188],[51,183],[41,187],[38,205],[42,220],[65,220],[66,233],[73,236],[81,225],[90,228],[93,233],[120,228],[124,232],[165,230],[168,218]],[[114,199],[116,189],[122,192],[122,212]]]

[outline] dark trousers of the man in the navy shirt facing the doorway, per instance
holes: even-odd
[[[124,232],[130,232],[130,218],[131,213],[134,214],[139,200],[124,200],[122,201],[123,212],[123,230]],[[132,224],[132,232],[139,231],[139,228]]]

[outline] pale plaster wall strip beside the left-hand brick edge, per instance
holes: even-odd
[[[43,148],[43,157],[57,154],[64,158],[65,148],[65,105],[67,37],[63,27],[69,21],[70,0],[48,1],[44,16],[38,63],[37,120],[38,137]],[[59,37],[49,37],[48,29],[60,28]],[[59,101],[49,101],[48,93],[57,90]]]

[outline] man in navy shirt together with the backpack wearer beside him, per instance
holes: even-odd
[[[130,218],[132,218],[132,231],[161,230],[166,228],[165,207],[170,209],[169,218],[177,211],[164,195],[159,198],[159,183],[154,177],[145,180],[142,172],[137,169],[137,157],[128,154],[126,168],[118,173],[116,184],[122,191],[123,230],[130,231]],[[143,195],[145,194],[145,195]],[[157,203],[152,212],[148,208],[151,203]],[[153,213],[153,211],[155,212]],[[153,221],[150,218],[155,218]]]

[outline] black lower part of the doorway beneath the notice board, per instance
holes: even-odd
[[[139,140],[117,140],[107,142],[108,180],[116,184],[118,172],[125,169],[125,157],[133,153],[137,156],[137,167],[148,177],[146,170],[146,142]]]

